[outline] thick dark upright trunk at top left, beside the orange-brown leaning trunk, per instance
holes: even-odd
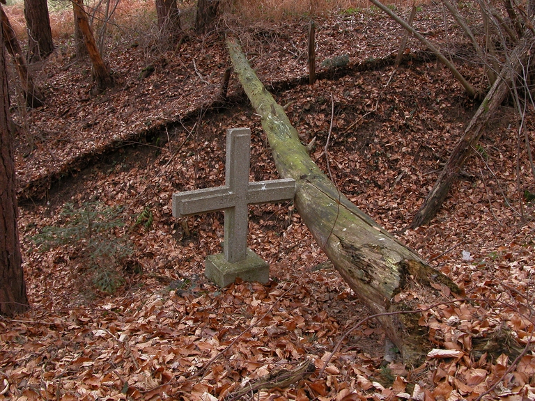
[[[24,0],[24,17],[28,29],[28,59],[47,58],[54,52],[47,0]]]

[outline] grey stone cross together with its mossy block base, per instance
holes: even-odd
[[[221,287],[236,277],[269,281],[267,262],[247,249],[247,205],[290,200],[295,194],[293,179],[249,182],[250,151],[251,130],[228,129],[225,185],[173,194],[174,217],[224,210],[223,253],[208,255],[205,270],[206,277]]]

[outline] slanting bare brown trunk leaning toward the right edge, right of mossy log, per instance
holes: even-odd
[[[412,219],[413,228],[428,223],[437,214],[448,195],[451,185],[457,179],[460,169],[463,168],[477,141],[481,138],[488,120],[495,117],[495,113],[509,93],[512,80],[518,77],[518,72],[520,72],[522,65],[526,63],[529,57],[529,49],[532,49],[534,45],[535,38],[532,31],[526,31],[525,37],[520,39],[518,45],[513,49],[509,62],[502,68],[493,87],[490,88],[479,109],[470,120],[463,138],[460,139],[453,152],[451,152],[446,166],[444,166],[437,182],[435,182],[435,186],[414,215],[414,219]]]

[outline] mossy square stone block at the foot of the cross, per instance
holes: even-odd
[[[251,249],[247,249],[245,259],[235,263],[227,262],[223,253],[217,253],[206,257],[204,275],[222,288],[234,283],[236,277],[265,284],[270,281],[270,265]]]

